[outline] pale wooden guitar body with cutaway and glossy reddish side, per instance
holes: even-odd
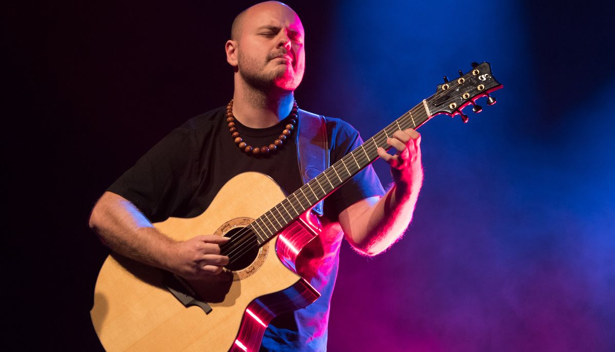
[[[266,175],[229,180],[205,212],[154,226],[177,241],[237,231],[285,198]],[[165,284],[169,273],[111,254],[95,287],[90,315],[107,351],[258,351],[273,318],[314,302],[319,293],[295,269],[301,248],[319,233],[308,211],[258,249],[245,268],[188,281],[211,308],[184,305]],[[316,224],[316,225],[315,225]]]

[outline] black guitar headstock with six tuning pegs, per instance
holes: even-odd
[[[480,113],[482,106],[476,103],[478,98],[487,97],[487,105],[496,103],[496,99],[490,96],[494,90],[502,88],[491,74],[491,65],[483,62],[472,63],[472,70],[464,74],[459,70],[459,78],[448,81],[444,76],[442,84],[438,84],[437,92],[426,99],[427,106],[431,115],[448,114],[451,117],[459,114],[464,122],[468,117],[463,113],[463,109],[468,105],[473,105],[472,111]]]

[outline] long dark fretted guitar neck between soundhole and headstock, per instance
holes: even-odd
[[[258,235],[259,245],[267,242],[288,223],[293,222],[299,215],[325,199],[339,186],[358,174],[360,170],[378,159],[378,148],[382,147],[385,150],[390,148],[386,140],[395,131],[408,128],[417,129],[432,116],[426,100],[423,100],[422,103],[410,109],[362,145],[346,154],[344,158],[335,162],[327,170],[312,178],[311,181],[290,194],[284,201],[279,202],[275,207],[261,215],[250,224],[252,230]]]

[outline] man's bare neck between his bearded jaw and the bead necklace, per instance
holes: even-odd
[[[236,77],[232,110],[244,126],[262,129],[274,126],[288,116],[294,100],[292,90],[275,86],[267,90],[256,89]]]

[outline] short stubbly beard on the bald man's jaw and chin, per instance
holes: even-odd
[[[295,90],[303,79],[303,72],[297,74],[290,65],[276,65],[266,70],[271,60],[277,55],[285,54],[287,54],[286,50],[272,52],[267,55],[263,63],[261,60],[237,52],[239,73],[247,84],[264,92],[275,88]]]

